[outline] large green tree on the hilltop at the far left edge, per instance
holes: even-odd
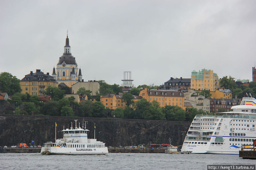
[[[8,95],[20,93],[22,91],[20,80],[7,72],[0,73],[0,92],[6,92]]]

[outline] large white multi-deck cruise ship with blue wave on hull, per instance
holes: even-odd
[[[222,116],[196,115],[189,127],[181,152],[192,154],[239,154],[243,144],[256,139],[256,100],[243,97],[241,104]],[[250,146],[245,146],[250,148]]]

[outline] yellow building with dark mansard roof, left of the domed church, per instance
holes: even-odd
[[[30,95],[42,96],[43,91],[48,87],[58,87],[58,82],[49,73],[44,74],[41,70],[36,70],[35,73],[30,71],[30,74],[25,75],[20,81],[21,93]]]

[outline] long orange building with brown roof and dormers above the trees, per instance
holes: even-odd
[[[180,91],[173,91],[173,90],[153,90],[143,88],[140,91],[139,96],[142,98],[147,99],[149,102],[153,100],[159,102],[160,107],[165,107],[166,105],[171,106],[179,106],[182,109],[186,109],[184,106],[184,93]]]

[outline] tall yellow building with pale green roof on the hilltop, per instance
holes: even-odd
[[[191,89],[194,90],[210,90],[218,89],[218,75],[213,70],[202,69],[199,72],[195,70],[191,73]]]

